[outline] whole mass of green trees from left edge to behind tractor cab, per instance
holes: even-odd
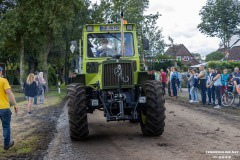
[[[160,16],[144,15],[149,0],[4,0],[0,4],[0,61],[18,64],[20,82],[35,70],[48,77],[50,64],[64,69],[69,42],[79,40],[84,24],[120,22],[124,18],[138,26],[138,37],[150,39],[151,50],[164,48],[162,30],[156,26]],[[141,43],[139,43],[141,44]],[[58,60],[56,60],[58,58]],[[18,62],[18,63],[17,63]],[[65,62],[66,65],[68,62]],[[26,64],[26,66],[25,66]],[[28,70],[26,70],[28,68]],[[25,73],[25,72],[26,73]],[[65,68],[67,71],[67,68]]]

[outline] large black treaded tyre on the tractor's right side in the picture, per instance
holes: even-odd
[[[159,136],[164,132],[165,126],[165,99],[161,83],[148,80],[143,84],[146,96],[146,106],[140,111],[140,126],[142,133],[147,136]]]

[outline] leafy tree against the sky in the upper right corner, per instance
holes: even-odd
[[[239,32],[240,2],[238,0],[208,0],[199,15],[202,22],[198,29],[210,36],[221,39],[228,52],[231,37]]]

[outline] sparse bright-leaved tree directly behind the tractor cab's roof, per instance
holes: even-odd
[[[160,14],[144,15],[144,12],[149,7],[149,0],[109,0],[110,9],[105,13],[108,20],[115,23],[120,22],[120,13],[124,13],[124,19],[128,23],[137,24],[138,41],[148,38],[150,42],[150,50],[156,53],[161,53],[164,50],[164,41],[162,29],[159,29],[156,21]]]

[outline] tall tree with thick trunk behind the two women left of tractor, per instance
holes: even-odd
[[[48,55],[54,40],[63,38],[64,30],[72,27],[75,14],[81,9],[83,1],[30,0],[28,2],[31,4],[30,10],[32,11],[29,14],[28,29],[31,34],[39,35],[39,64],[44,72],[44,77],[48,79]]]

